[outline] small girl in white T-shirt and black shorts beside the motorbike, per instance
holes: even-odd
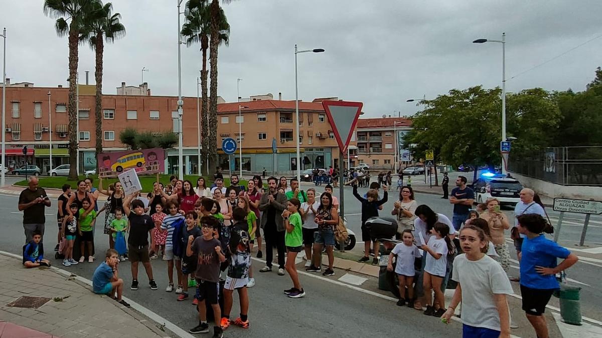
[[[411,229],[404,229],[402,232],[403,243],[397,244],[391,254],[389,254],[389,265],[386,267],[388,271],[393,271],[393,257],[397,256],[395,266],[395,273],[399,279],[399,301],[397,306],[404,306],[406,304],[406,287],[408,287],[408,307],[414,307],[414,276],[416,271],[414,269],[414,261],[420,255],[418,247],[414,245],[414,235],[412,235]]]

